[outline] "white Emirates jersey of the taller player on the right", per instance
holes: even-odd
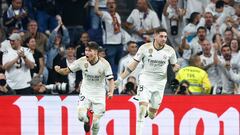
[[[166,45],[157,50],[153,42],[142,45],[134,56],[136,61],[143,62],[143,69],[140,75],[140,82],[145,84],[157,83],[167,78],[167,67],[177,63],[177,57],[174,49]]]

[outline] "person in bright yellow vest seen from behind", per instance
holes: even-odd
[[[201,59],[198,55],[191,56],[189,66],[181,68],[176,79],[181,82],[187,80],[190,83],[189,91],[193,94],[209,94],[211,83],[206,71],[200,68]]]

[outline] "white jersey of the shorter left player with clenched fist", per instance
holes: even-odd
[[[72,72],[82,70],[81,94],[95,98],[105,98],[105,79],[113,79],[113,73],[110,64],[104,58],[91,65],[86,56],[74,61],[68,67]]]

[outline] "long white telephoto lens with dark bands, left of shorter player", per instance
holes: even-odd
[[[67,83],[49,84],[45,85],[45,87],[51,91],[51,94],[67,94],[69,91]]]

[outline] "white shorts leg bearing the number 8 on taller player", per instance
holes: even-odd
[[[139,85],[137,90],[137,97],[139,102],[149,103],[151,94],[149,92],[148,87],[146,87],[145,85]]]

